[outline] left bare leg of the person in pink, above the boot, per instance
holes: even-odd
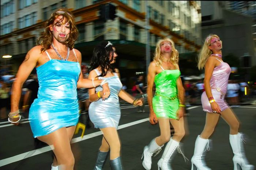
[[[219,114],[217,113],[206,113],[206,121],[204,125],[204,130],[201,133],[200,137],[203,139],[209,139],[209,137],[214,132],[215,126],[219,120]]]

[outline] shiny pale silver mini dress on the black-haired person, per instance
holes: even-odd
[[[98,76],[101,74],[97,69],[94,69],[94,71]],[[93,122],[95,128],[117,128],[121,116],[118,94],[122,88],[122,83],[117,73],[114,73],[114,76],[112,77],[99,77],[99,79],[105,79],[108,81],[110,95],[105,100],[100,98],[98,101],[92,102],[90,104],[90,120]],[[96,87],[95,91],[102,91],[102,87]]]

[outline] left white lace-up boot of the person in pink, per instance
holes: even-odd
[[[203,152],[209,150],[209,139],[202,139],[200,135],[196,138],[194,155],[191,158],[191,170],[211,170],[204,162]]]

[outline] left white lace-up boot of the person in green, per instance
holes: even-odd
[[[151,142],[144,147],[143,150],[143,154],[142,154],[142,165],[146,170],[150,170],[151,169],[151,164],[152,164],[152,160],[151,157],[153,156],[153,154],[155,153],[155,156],[162,150],[162,146],[158,146],[158,144],[155,142],[154,138],[153,140],[151,140]]]

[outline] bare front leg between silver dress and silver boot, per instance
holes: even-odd
[[[110,160],[113,160],[119,157],[121,144],[120,144],[120,140],[119,140],[119,136],[116,128],[113,128],[113,127],[102,128],[101,131],[107,143],[109,144]]]

